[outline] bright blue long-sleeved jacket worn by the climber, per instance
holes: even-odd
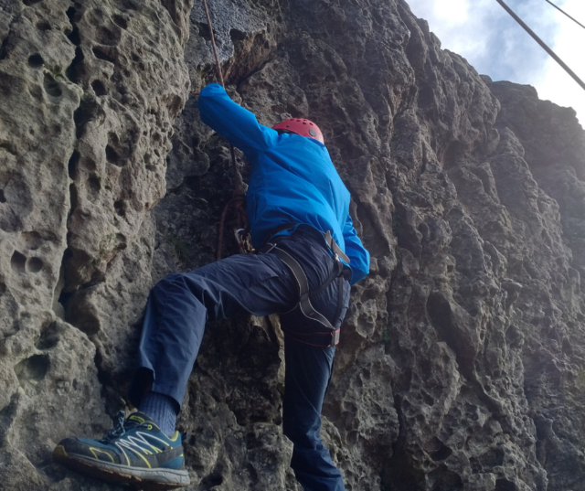
[[[203,123],[223,134],[250,161],[247,210],[255,248],[261,247],[271,229],[284,223],[331,230],[350,260],[351,283],[366,277],[369,253],[349,216],[349,191],[324,144],[298,134],[279,135],[263,126],[217,83],[201,91],[199,112]]]

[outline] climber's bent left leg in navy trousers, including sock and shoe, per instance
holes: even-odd
[[[195,272],[167,276],[151,292],[144,319],[139,363],[153,390],[141,391],[139,370],[131,395],[141,411],[125,421],[122,412],[116,428],[100,440],[61,440],[54,460],[83,474],[141,489],[187,486],[181,435],[173,428],[173,418],[157,416],[168,416],[172,405],[178,411],[206,320],[242,310],[256,315],[283,312],[297,295],[293,277],[275,256],[234,256]],[[138,441],[144,445],[136,445]]]

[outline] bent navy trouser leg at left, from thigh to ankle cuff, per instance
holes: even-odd
[[[137,406],[152,382],[152,390],[173,398],[178,411],[207,320],[242,311],[278,314],[292,308],[297,296],[292,274],[271,254],[230,256],[166,276],[148,299],[131,401]]]

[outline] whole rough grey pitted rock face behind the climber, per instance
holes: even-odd
[[[480,77],[401,0],[210,6],[230,95],[321,126],[372,254],[324,405],[346,488],[585,490],[575,113]],[[50,454],[130,409],[150,287],[214,260],[214,80],[198,3],[0,0],[0,488],[114,488]],[[277,318],[208,326],[178,422],[190,489],[300,491],[282,382]]]

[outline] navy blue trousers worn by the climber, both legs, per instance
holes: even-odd
[[[303,266],[311,289],[325,282],[335,261],[324,240],[303,230],[279,237],[278,245]],[[311,298],[315,310],[339,325],[346,315],[349,283],[342,283],[343,309],[335,319],[339,283]],[[166,276],[148,299],[138,354],[139,374],[130,390],[134,405],[140,400],[144,376],[152,390],[183,401],[207,320],[229,318],[241,312],[252,315],[281,314],[283,326],[294,331],[298,315],[285,314],[298,302],[296,280],[276,256],[246,254],[213,262],[193,272]],[[307,327],[309,326],[309,327]],[[282,405],[283,432],[293,442],[291,466],[305,491],[343,491],[343,478],[321,440],[321,410],[331,379],[335,347],[312,347],[285,335],[285,389]]]

